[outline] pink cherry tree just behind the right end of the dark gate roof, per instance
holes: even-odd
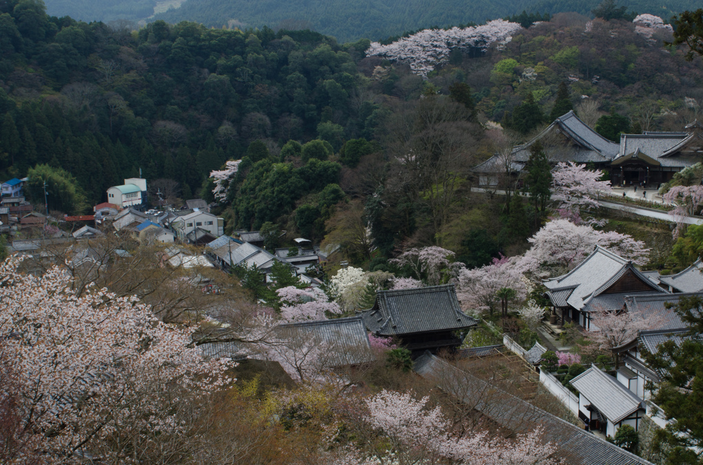
[[[500,301],[498,294],[501,289],[515,291],[514,300],[522,301],[527,294],[522,268],[519,266],[520,257],[494,258],[493,263],[461,270],[458,277],[457,297],[465,311],[482,313],[489,311],[493,315]]]

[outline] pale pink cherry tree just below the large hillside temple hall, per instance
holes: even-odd
[[[598,194],[612,192],[610,181],[598,181],[602,171],[588,170],[574,162],[559,163],[552,173],[552,198],[559,202],[559,209],[568,212],[574,223],[581,222],[581,209],[597,209]]]

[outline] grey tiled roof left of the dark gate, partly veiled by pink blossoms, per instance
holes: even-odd
[[[282,339],[312,337],[324,347],[333,366],[357,365],[374,359],[361,316],[279,325]]]

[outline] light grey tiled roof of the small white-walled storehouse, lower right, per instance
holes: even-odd
[[[629,417],[634,412],[645,410],[643,401],[632,391],[623,386],[617,379],[591,368],[569,381],[598,412],[605,415],[614,424]]]

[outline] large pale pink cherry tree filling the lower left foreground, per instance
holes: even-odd
[[[188,348],[191,332],[168,327],[134,297],[77,296],[60,268],[41,277],[17,268],[15,259],[0,265],[0,341],[41,463],[155,463],[149,454],[172,452],[159,450],[190,428],[179,412],[227,381],[227,360],[202,360]]]

